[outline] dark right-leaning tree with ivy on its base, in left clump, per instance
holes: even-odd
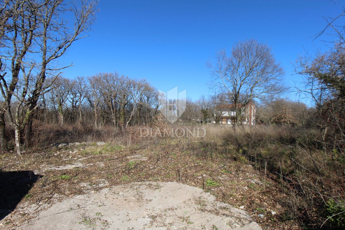
[[[73,42],[85,38],[86,32],[91,30],[97,12],[97,2],[81,0],[80,2],[66,2],[64,0],[45,0],[41,5],[38,20],[42,27],[40,36],[39,75],[34,82],[34,88],[28,99],[27,128],[31,133],[33,113],[37,109],[38,101],[45,92],[44,82],[47,76],[59,76],[62,69],[69,66],[57,66],[60,58]],[[74,16],[69,22],[68,14]]]

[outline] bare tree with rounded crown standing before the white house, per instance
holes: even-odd
[[[208,63],[214,77],[213,88],[227,94],[234,104],[236,123],[242,110],[254,99],[282,93],[284,71],[273,57],[267,44],[249,39],[234,44],[231,55],[225,51],[216,53],[215,63]]]

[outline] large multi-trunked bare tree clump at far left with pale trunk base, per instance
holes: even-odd
[[[26,139],[29,139],[41,96],[49,90],[61,70],[68,67],[58,66],[56,60],[73,42],[90,31],[97,2],[11,0],[6,3],[11,14],[4,29],[0,27],[3,30],[0,37],[3,44],[0,50],[0,89],[3,109],[14,128],[16,150],[20,154],[23,131],[27,129]],[[4,10],[0,14],[2,12]],[[47,78],[52,81],[47,81]],[[14,110],[11,109],[13,100],[17,101]]]

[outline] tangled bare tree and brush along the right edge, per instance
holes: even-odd
[[[297,73],[304,75],[306,79],[305,87],[300,89],[300,92],[314,106],[310,120],[319,128],[321,137],[315,141],[323,148],[322,154],[317,157],[311,155],[312,162],[321,158],[321,161],[314,165],[318,175],[322,176],[318,176],[308,186],[311,191],[316,190],[315,194],[325,203],[332,203],[333,207],[337,207],[329,211],[329,217],[320,229],[325,224],[326,229],[344,226],[345,26],[342,20],[338,20],[341,17],[345,17],[344,8],[337,17],[328,18],[327,26],[317,35],[321,36],[326,31],[331,33],[333,40],[329,40],[327,44],[332,44],[332,47],[328,46],[327,51],[318,52],[313,57],[301,58],[297,69]],[[341,179],[336,183],[329,183],[333,178]]]

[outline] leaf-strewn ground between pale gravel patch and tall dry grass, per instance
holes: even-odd
[[[269,178],[264,186],[260,174],[247,162],[234,161],[218,153],[196,156],[194,151],[177,142],[121,148],[112,144],[101,147],[89,144],[75,149],[53,148],[35,158],[28,155],[13,158],[11,155],[2,159],[7,162],[2,167],[4,171],[30,169],[43,175],[29,191],[31,196],[24,198],[16,212],[4,220],[8,227],[15,228],[34,217],[36,212],[28,213],[25,209],[30,205],[38,211],[76,194],[139,181],[186,183],[213,193],[219,201],[231,206],[245,206],[249,215],[265,228],[296,226],[290,220],[280,223],[280,214],[286,212],[279,203],[284,195]],[[75,162],[88,166],[52,169]],[[272,215],[271,211],[278,214]],[[265,218],[259,218],[258,214],[265,214]]]

